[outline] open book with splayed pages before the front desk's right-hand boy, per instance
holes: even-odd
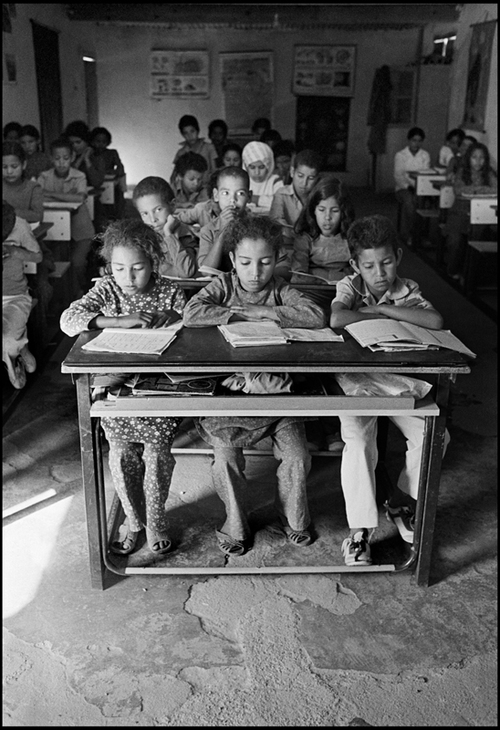
[[[469,357],[476,357],[476,354],[449,330],[431,330],[395,319],[365,319],[360,322],[352,322],[344,329],[362,347],[369,347],[373,352],[445,348],[461,352]]]

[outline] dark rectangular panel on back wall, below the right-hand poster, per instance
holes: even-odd
[[[346,171],[350,103],[349,98],[341,96],[297,97],[297,151],[318,152],[324,170]]]

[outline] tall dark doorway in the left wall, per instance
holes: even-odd
[[[59,34],[31,21],[42,147],[48,150],[63,129]]]

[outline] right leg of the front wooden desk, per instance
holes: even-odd
[[[415,528],[419,544],[417,548],[417,567],[415,578],[417,585],[427,586],[431,567],[432,542],[434,536],[434,525],[436,521],[436,510],[439,496],[439,482],[441,479],[441,461],[443,457],[444,432],[446,428],[446,414],[448,398],[450,393],[450,379],[448,375],[439,375],[437,379],[436,402],[439,406],[439,416],[426,418],[426,431],[430,440],[427,463],[422,464],[425,469],[422,493],[421,520],[418,519]],[[424,451],[427,444],[424,443]],[[418,530],[420,522],[420,530]]]

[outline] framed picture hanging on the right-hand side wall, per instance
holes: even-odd
[[[478,132],[485,131],[491,52],[496,23],[496,20],[489,20],[472,26],[463,126]]]

